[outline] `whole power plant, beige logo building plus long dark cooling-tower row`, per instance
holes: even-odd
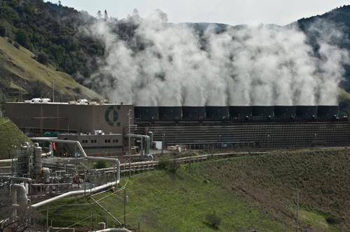
[[[109,150],[127,150],[128,113],[131,143],[143,134],[165,145],[196,149],[350,145],[350,123],[339,115],[339,106],[156,107],[83,102],[6,103],[5,109],[6,116],[26,133],[58,131],[59,138],[79,140],[94,153],[106,150],[109,140],[118,140],[108,143],[113,147]],[[97,130],[104,136],[112,133],[111,138],[97,139]]]

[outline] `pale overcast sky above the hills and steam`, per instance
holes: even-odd
[[[50,0],[57,3],[58,0]],[[285,25],[302,17],[320,15],[349,0],[61,0],[65,6],[96,15],[107,10],[122,19],[137,8],[141,17],[156,9],[167,13],[169,22],[218,22]]]

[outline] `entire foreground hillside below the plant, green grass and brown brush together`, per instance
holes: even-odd
[[[350,229],[349,161],[349,150],[276,152],[192,164],[190,170],[182,166],[176,174],[147,173],[127,182],[127,224],[131,228],[140,224],[141,231],[295,231],[299,189],[302,230],[346,231]],[[86,229],[90,206],[70,206],[76,203],[87,199],[51,205],[52,224],[77,223]],[[123,192],[99,203],[123,221]],[[221,218],[218,229],[205,219],[214,211]],[[45,209],[42,212],[45,215]],[[92,213],[93,222],[106,222],[100,208],[94,206]],[[111,222],[109,217],[109,226]]]

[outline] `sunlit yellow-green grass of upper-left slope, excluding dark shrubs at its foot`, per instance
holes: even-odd
[[[55,91],[65,96],[78,96],[71,89],[79,87],[80,94],[87,96],[90,99],[102,99],[90,89],[78,84],[70,75],[55,71],[52,66],[45,66],[33,59],[34,54],[29,50],[20,47],[15,48],[11,43],[8,43],[6,38],[0,36],[0,63],[10,73],[13,73],[18,78],[29,82],[39,81],[52,87],[52,78],[55,79]],[[12,83],[15,87],[15,83]],[[20,87],[19,87],[20,88]]]

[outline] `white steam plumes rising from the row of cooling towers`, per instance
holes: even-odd
[[[133,36],[123,38],[118,23],[134,25]],[[329,28],[314,55],[293,26],[209,27],[200,37],[160,10],[134,11],[89,29],[105,45],[93,81],[111,101],[137,106],[335,105],[349,55],[330,43],[342,34]]]

